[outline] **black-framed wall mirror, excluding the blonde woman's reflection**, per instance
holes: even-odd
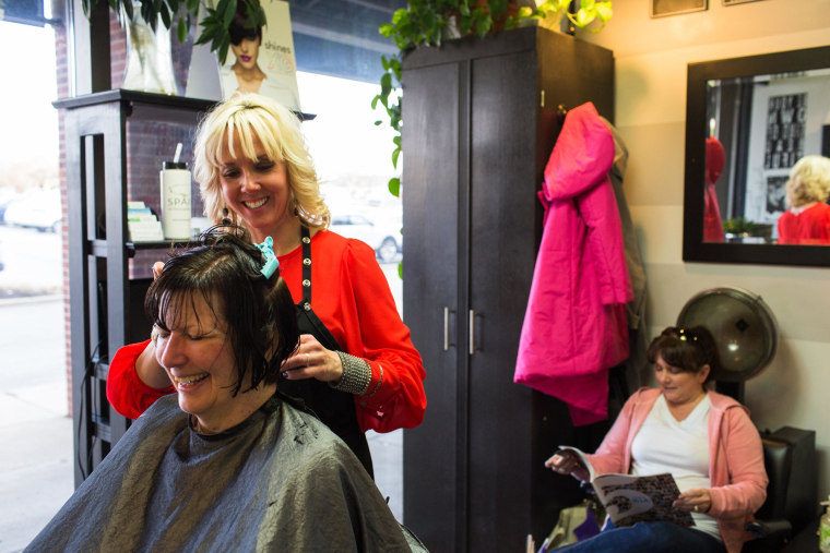
[[[687,76],[684,261],[830,266],[830,241],[784,244],[778,227],[793,165],[830,157],[830,46]]]

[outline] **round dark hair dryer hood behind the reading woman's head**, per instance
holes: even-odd
[[[775,315],[760,296],[740,288],[711,288],[693,296],[680,311],[677,325],[699,325],[712,333],[721,358],[715,381],[744,382],[775,357]]]

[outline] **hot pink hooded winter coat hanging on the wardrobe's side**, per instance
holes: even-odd
[[[584,104],[568,112],[540,192],[544,231],[513,380],[562,399],[576,425],[607,418],[607,370],[628,358],[633,296],[613,161],[610,130]]]

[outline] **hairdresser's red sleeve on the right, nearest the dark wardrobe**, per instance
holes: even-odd
[[[345,252],[344,293],[352,294],[359,325],[361,351],[348,353],[365,359],[371,368],[371,382],[364,396],[355,396],[360,429],[391,432],[411,429],[424,420],[427,399],[424,393],[424,363],[412,345],[410,329],[401,321],[392,291],[375,251],[349,240]],[[347,329],[353,334],[351,329]],[[349,340],[352,342],[352,340]],[[353,344],[349,344],[353,346]]]

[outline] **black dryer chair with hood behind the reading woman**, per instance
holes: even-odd
[[[719,346],[715,389],[744,402],[744,382],[775,356],[778,323],[760,296],[734,287],[704,290],[684,305],[678,326],[704,326]],[[744,553],[782,551],[818,516],[816,433],[784,426],[761,433],[769,478],[767,500],[747,531]],[[817,549],[817,546],[816,546]]]

